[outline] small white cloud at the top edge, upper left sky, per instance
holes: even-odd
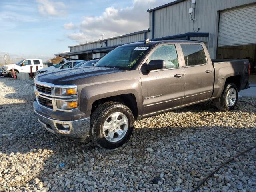
[[[43,16],[63,16],[66,14],[65,4],[53,0],[36,0],[38,2],[38,12]]]

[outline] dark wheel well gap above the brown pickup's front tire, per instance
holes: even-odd
[[[134,119],[137,119],[138,108],[137,108],[137,102],[136,102],[136,98],[135,98],[134,94],[123,94],[123,95],[117,95],[117,96],[112,96],[112,97],[107,97],[107,98],[102,98],[102,99],[96,100],[92,104],[91,115],[98,106],[102,105],[105,102],[110,102],[110,101],[120,102],[120,103],[126,105],[132,111]]]

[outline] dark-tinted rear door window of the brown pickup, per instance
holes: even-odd
[[[182,52],[184,55],[186,66],[206,64],[206,56],[201,45],[182,44]]]

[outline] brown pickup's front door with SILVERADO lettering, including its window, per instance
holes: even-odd
[[[150,60],[165,60],[166,68],[146,74],[140,70],[144,116],[169,110],[183,103],[185,75],[178,60],[179,55],[177,44],[160,44],[145,59],[146,64]]]

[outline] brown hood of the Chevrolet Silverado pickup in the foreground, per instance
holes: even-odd
[[[36,76],[36,80],[46,83],[52,83],[55,85],[68,85],[76,84],[80,79],[98,76],[110,73],[122,72],[122,70],[116,68],[107,67],[84,67],[84,68],[70,68],[66,70],[58,70],[48,73],[42,73]]]

